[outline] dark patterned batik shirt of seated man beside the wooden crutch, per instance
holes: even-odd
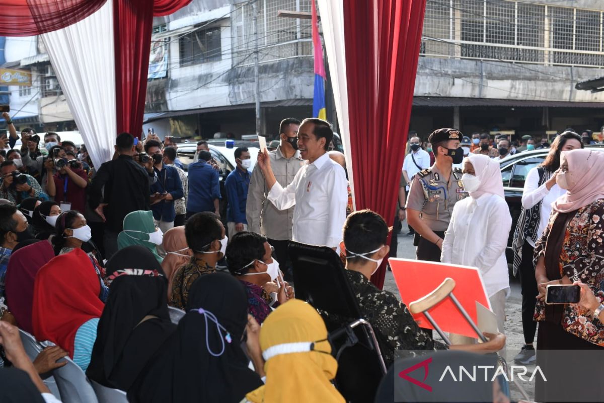
[[[417,326],[405,304],[393,293],[378,289],[358,271],[345,270],[345,273],[355,293],[361,317],[373,327],[386,366],[394,362],[396,350],[447,348],[445,344],[432,340]],[[339,321],[334,315],[325,315]]]

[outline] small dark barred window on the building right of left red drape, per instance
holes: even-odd
[[[220,28],[199,30],[178,39],[181,66],[216,62],[222,59]]]

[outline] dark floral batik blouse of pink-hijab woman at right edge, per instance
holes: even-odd
[[[545,243],[556,216],[555,212],[551,214],[547,228],[535,244],[535,262],[545,255]],[[600,289],[604,280],[604,199],[580,208],[568,222],[559,266],[561,278],[567,276],[571,282],[585,283],[600,303],[604,303],[604,292]],[[543,301],[537,301],[535,320],[545,320]],[[564,306],[562,328],[576,337],[604,346],[604,324],[579,304]]]

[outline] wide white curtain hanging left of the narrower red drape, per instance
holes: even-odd
[[[97,169],[111,160],[117,135],[113,25],[107,1],[82,21],[40,35]]]

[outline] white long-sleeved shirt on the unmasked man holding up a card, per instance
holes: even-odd
[[[305,161],[285,189],[275,182],[268,199],[279,210],[295,205],[292,240],[335,248],[342,240],[348,185],[344,169],[324,153]]]

